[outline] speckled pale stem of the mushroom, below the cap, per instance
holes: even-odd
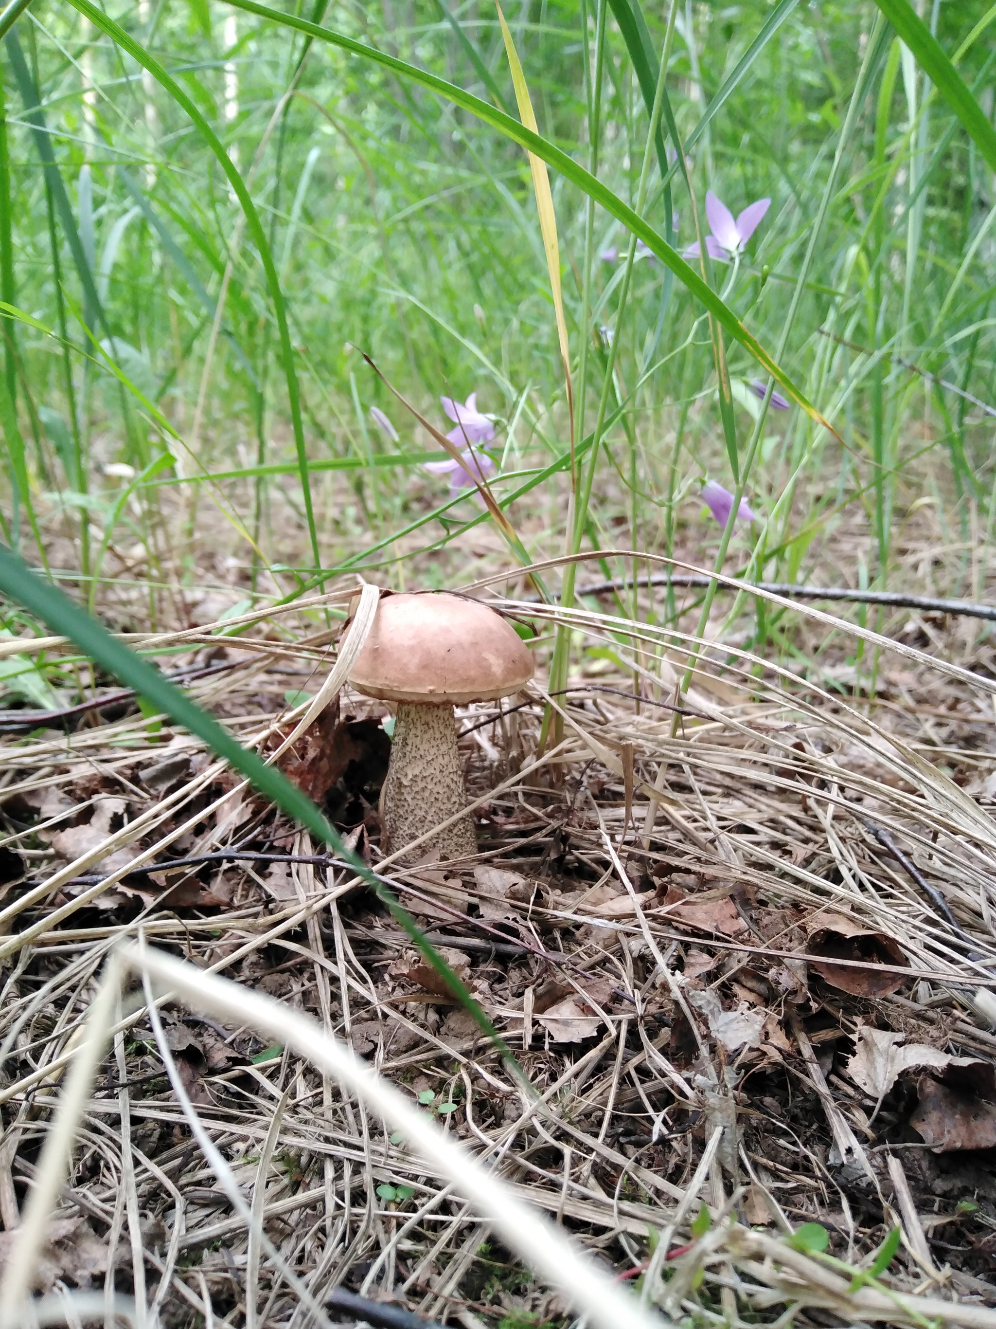
[[[404,848],[465,807],[453,707],[400,702],[381,792],[384,848],[388,853]],[[462,859],[470,853],[477,853],[477,839],[471,817],[465,816],[401,861],[416,863],[426,855]]]

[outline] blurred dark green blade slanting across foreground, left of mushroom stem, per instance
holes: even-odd
[[[133,687],[139,696],[146,698],[146,700],[151,702],[165,715],[169,715],[177,724],[182,724],[183,728],[203,739],[218,756],[223,758],[232,769],[244,775],[282,812],[286,812],[299,825],[311,831],[321,844],[327,844],[344,863],[348,863],[352,870],[386,904],[392,914],[425,956],[426,961],[445,978],[454,994],[459,997],[481,1029],[525,1082],[525,1075],[518,1070],[511,1051],[466,986],[426,941],[425,934],[408,910],[402,909],[394,896],[367,867],[363,859],[343,843],[341,836],[324,813],[319,811],[296,784],[288,780],[276,767],[268,766],[256,752],[242,747],[227,730],[222,728],[212,715],[202,711],[199,706],[191,702],[169,679],[163,678],[147,661],[143,661],[122,642],[112,637],[94,618],[80,609],[78,605],[74,605],[56,586],[44,582],[16,554],[3,545],[0,545],[0,591],[24,605],[25,609],[29,609],[53,633],[69,637],[84,654],[106,668],[126,687]]]

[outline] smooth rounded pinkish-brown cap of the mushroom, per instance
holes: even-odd
[[[384,702],[465,706],[509,696],[533,678],[518,633],[475,599],[385,595],[349,682]]]

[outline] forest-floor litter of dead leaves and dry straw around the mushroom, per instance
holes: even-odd
[[[647,1278],[672,1317],[774,1322],[794,1305],[813,1325],[996,1326],[991,688],[922,657],[924,724],[887,704],[887,664],[869,711],[705,646],[699,714],[675,719],[647,653],[665,647],[680,671],[689,639],[598,614],[579,630],[594,647],[611,634],[631,672],[570,679],[564,738],[542,754],[538,690],[511,699],[514,724],[510,703],[462,708],[478,859],[385,869],[542,1112],[390,916],[187,735],[133,710],[3,740],[16,860],[1,901],[0,1260],[94,977],[141,926],[315,1014],[467,1148],[497,1151],[523,1197]],[[219,645],[207,625],[159,645],[181,667],[226,658],[224,679],[190,691],[266,751],[287,732],[288,692],[313,695],[335,658],[309,631],[290,610],[279,638],[263,626]],[[347,691],[283,759],[374,868],[386,710]],[[61,921],[20,942],[53,906]],[[248,1029],[173,1006],[162,1018],[202,1123],[313,1294],[343,1285],[448,1322],[568,1322],[336,1084]],[[134,1220],[165,1324],[240,1324],[246,1228],[147,1017],[130,1021],[93,1087],[37,1286],[133,1290]],[[296,1325],[296,1296],[254,1260],[256,1322]]]

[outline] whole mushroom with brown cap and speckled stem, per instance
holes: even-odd
[[[453,707],[509,696],[531,678],[533,655],[519,635],[479,601],[442,591],[381,598],[349,682],[397,703],[381,792],[388,853],[466,807]],[[477,853],[473,819],[454,821],[405,861],[428,853]]]

